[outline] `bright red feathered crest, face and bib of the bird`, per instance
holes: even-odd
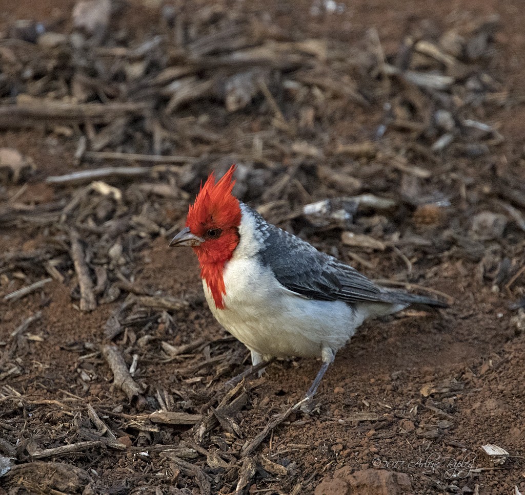
[[[215,306],[224,309],[223,296],[226,288],[223,279],[223,269],[232,257],[239,243],[238,227],[240,225],[239,200],[232,195],[235,185],[233,173],[235,165],[215,183],[212,172],[188,211],[186,227],[192,234],[205,239],[193,248],[201,265],[201,277],[205,279],[215,301]],[[209,238],[207,232],[218,229],[218,236]]]

